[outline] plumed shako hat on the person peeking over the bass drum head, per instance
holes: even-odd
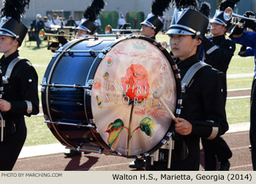
[[[161,30],[164,24],[159,19],[159,16],[163,15],[165,9],[170,7],[170,1],[172,0],[154,0],[151,5],[151,13],[148,14],[146,19],[140,23],[140,25],[146,25],[154,28],[156,34]]]

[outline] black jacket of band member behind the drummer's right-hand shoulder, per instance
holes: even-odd
[[[212,46],[204,43],[203,47],[205,50],[205,62],[214,67],[214,69],[219,69],[219,71],[227,73],[228,65],[230,64],[231,58],[236,50],[236,45],[230,39],[225,39],[225,35],[211,38],[214,45],[219,47],[211,53],[207,53],[208,49]]]

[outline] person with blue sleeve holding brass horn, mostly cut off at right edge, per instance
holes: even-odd
[[[253,12],[246,12],[244,17],[249,18],[254,16]],[[255,90],[255,81],[256,81],[256,22],[249,19],[242,19],[240,21],[244,23],[244,28],[250,28],[252,31],[244,31],[244,28],[235,26],[231,31],[230,38],[233,42],[244,45],[246,47],[251,47],[255,55],[255,76],[252,81],[252,91],[251,91],[251,112],[250,112],[250,129],[249,129],[249,138],[251,142],[252,150],[252,167],[256,171],[256,90]],[[251,50],[251,54],[252,54]]]

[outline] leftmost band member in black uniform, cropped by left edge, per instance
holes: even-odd
[[[31,63],[20,58],[18,47],[28,28],[20,22],[29,0],[6,0],[1,9],[0,59],[4,94],[0,110],[4,118],[4,138],[0,142],[0,170],[12,170],[26,139],[24,115],[39,112],[37,72]],[[1,133],[0,133],[1,134]]]

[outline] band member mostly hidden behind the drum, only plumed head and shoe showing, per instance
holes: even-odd
[[[144,37],[148,37],[151,39],[156,39],[157,33],[162,29],[164,24],[162,20],[159,19],[165,12],[165,9],[170,7],[171,0],[154,0],[151,5],[151,14],[148,14],[147,18],[140,23],[141,30],[140,34]],[[143,159],[135,159],[129,164],[130,168],[141,169],[145,166]]]

